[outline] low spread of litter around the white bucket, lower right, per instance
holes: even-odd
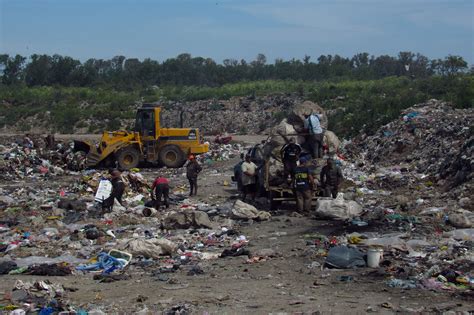
[[[309,269],[373,268],[363,275],[384,279],[387,286],[457,292],[474,289],[474,229],[459,229],[426,237],[410,233],[352,232],[340,236],[303,235],[311,249]],[[352,281],[345,276],[341,281]],[[349,278],[350,277],[350,278]]]

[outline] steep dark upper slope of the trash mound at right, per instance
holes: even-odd
[[[399,165],[404,173],[431,181],[451,197],[473,193],[474,109],[430,100],[405,110],[372,136],[356,137],[345,148],[364,164]]]

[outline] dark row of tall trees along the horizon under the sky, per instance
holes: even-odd
[[[242,81],[332,79],[372,80],[390,76],[427,78],[449,76],[468,70],[460,56],[429,59],[421,54],[400,52],[398,56],[371,56],[359,53],[352,58],[321,55],[317,60],[305,56],[302,60],[277,59],[267,63],[259,54],[255,60],[226,59],[222,64],[211,58],[180,54],[163,62],[152,59],[126,58],[77,59],[60,55],[0,55],[2,85],[33,86],[103,86],[131,90],[146,86],[222,86]],[[472,71],[472,69],[471,69]]]

